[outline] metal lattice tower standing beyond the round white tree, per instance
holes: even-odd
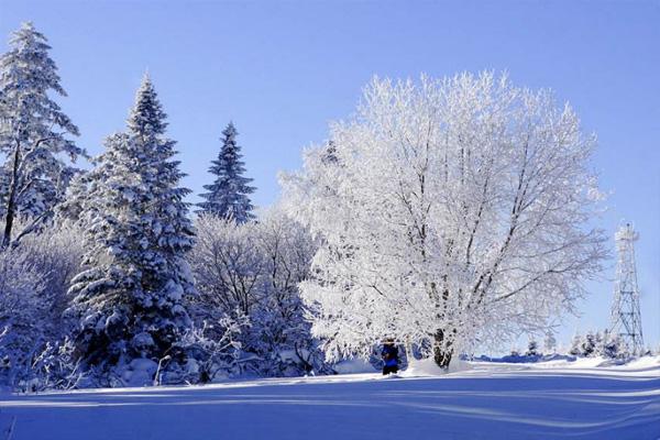
[[[634,245],[639,239],[639,234],[628,223],[619,228],[614,234],[614,239],[618,260],[614,282],[609,334],[618,336],[631,354],[639,355],[644,353],[644,337],[641,333]]]

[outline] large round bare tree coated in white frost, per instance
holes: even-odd
[[[546,90],[376,78],[330,140],[337,161],[309,150],[282,180],[324,243],[300,287],[332,359],[396,336],[447,366],[571,311],[601,268],[594,138]]]

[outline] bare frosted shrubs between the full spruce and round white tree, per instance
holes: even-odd
[[[282,376],[322,371],[319,341],[311,338],[298,290],[317,246],[309,232],[275,208],[257,222],[202,216],[196,229],[189,260],[199,290],[193,308],[197,327],[226,316],[246,318],[250,326],[239,341],[254,372]],[[207,333],[219,338],[223,331]]]

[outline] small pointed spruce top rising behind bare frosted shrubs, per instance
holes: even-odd
[[[254,207],[249,197],[254,193],[254,187],[249,185],[252,179],[243,176],[245,164],[241,161],[241,147],[237,144],[238,134],[232,122],[222,132],[222,148],[209,168],[216,180],[205,185],[208,193],[200,194],[206,201],[198,204],[201,208],[198,212],[244,223],[254,219]]]

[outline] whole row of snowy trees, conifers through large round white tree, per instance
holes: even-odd
[[[585,134],[492,72],[374,78],[255,212],[230,123],[186,201],[145,76],[92,169],[44,35],[0,58],[0,360],[23,387],[332,372],[384,338],[438,366],[574,312],[608,255]]]

